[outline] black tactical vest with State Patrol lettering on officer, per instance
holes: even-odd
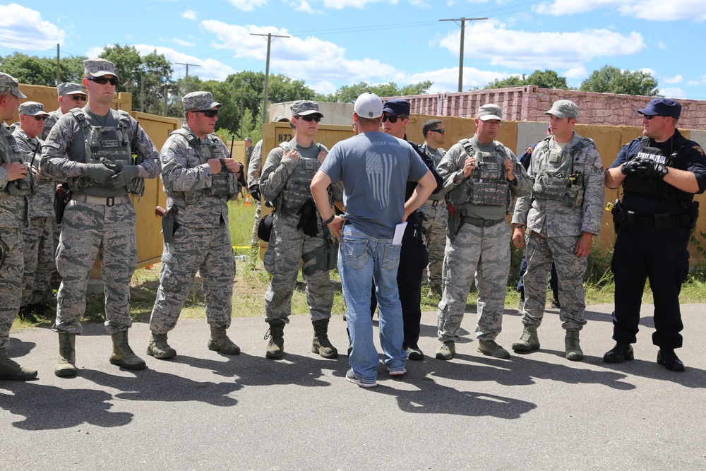
[[[633,160],[635,157],[646,157],[650,160],[663,163],[666,167],[676,167],[676,162],[679,159],[679,152],[682,148],[683,146],[678,148],[671,155],[666,156],[662,153],[662,150],[650,147],[650,138],[647,136],[642,136],[640,138],[638,153],[630,157],[630,160]],[[625,177],[625,181],[623,181],[623,191],[626,193],[654,196],[665,200],[681,200],[688,202],[692,201],[694,198],[693,193],[687,193],[686,191],[676,189],[674,186],[664,183],[664,181],[660,179],[638,177],[637,175],[628,175]]]

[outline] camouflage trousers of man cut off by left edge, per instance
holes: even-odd
[[[10,346],[10,328],[20,310],[22,229],[0,229],[0,350]]]

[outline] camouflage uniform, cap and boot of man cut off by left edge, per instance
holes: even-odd
[[[0,92],[26,98],[18,81],[0,73]],[[8,126],[0,122],[0,165],[24,162],[20,148]],[[23,368],[8,357],[10,328],[20,308],[23,272],[22,230],[29,224],[29,198],[37,191],[37,178],[27,172],[24,179],[8,180],[8,172],[0,167],[0,378],[28,380],[37,371]]]

